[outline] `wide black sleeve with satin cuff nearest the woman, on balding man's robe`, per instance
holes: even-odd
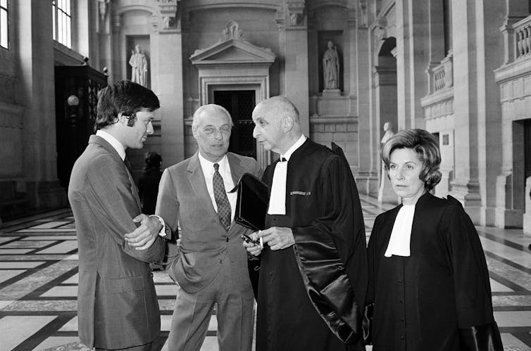
[[[306,291],[330,330],[345,343],[361,338],[368,281],[365,226],[352,173],[330,154],[319,175],[320,217],[292,228]]]

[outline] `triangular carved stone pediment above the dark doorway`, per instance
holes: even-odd
[[[192,64],[242,64],[262,63],[271,64],[275,61],[275,54],[270,49],[264,49],[239,39],[227,39],[203,50],[196,50],[190,56]]]

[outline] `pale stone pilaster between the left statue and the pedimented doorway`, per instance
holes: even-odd
[[[161,101],[161,139],[164,166],[185,159],[185,101],[182,88],[182,11],[177,1],[160,4],[161,14],[153,20],[152,72],[153,91]]]

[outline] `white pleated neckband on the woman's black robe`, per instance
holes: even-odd
[[[413,216],[415,215],[415,205],[402,205],[399,212],[394,219],[393,230],[391,231],[391,238],[389,238],[389,245],[385,250],[385,257],[403,256],[409,257],[411,255],[411,227],[413,226]]]

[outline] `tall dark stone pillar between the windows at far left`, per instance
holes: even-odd
[[[23,164],[30,207],[67,205],[57,179],[54,45],[49,1],[16,1],[20,62],[20,105],[23,117]]]

